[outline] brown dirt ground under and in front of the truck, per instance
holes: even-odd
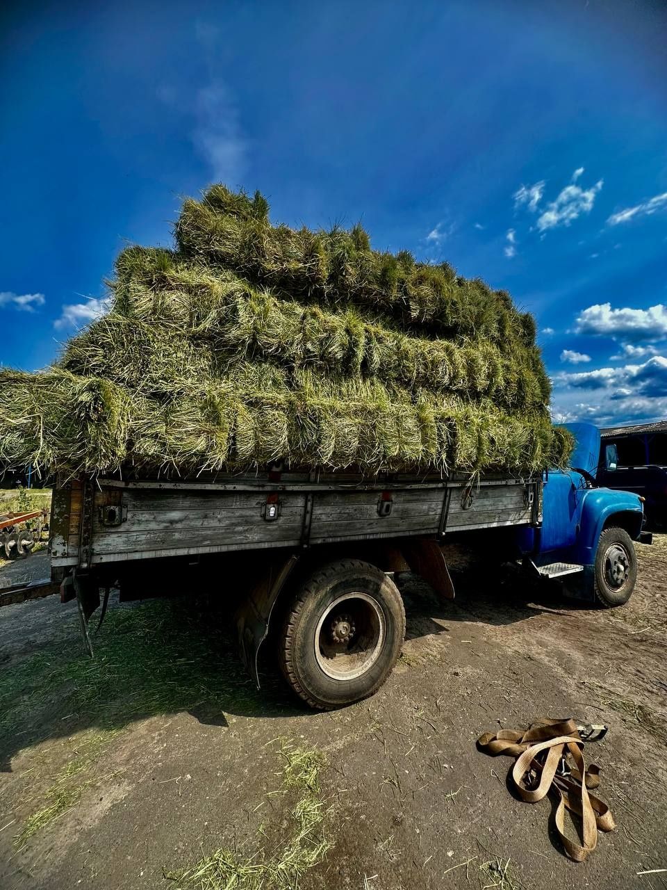
[[[94,661],[72,603],[3,609],[0,886],[175,888],[187,882],[170,874],[214,851],[259,862],[292,831],[281,769],[298,746],[325,756],[313,788],[329,847],[301,890],[666,887],[667,536],[638,549],[635,594],[613,611],[475,571],[443,604],[400,576],[398,667],[325,714],[270,675],[256,692],[229,619],[192,600],[112,604]],[[44,554],[28,563],[44,573]],[[610,727],[585,755],[618,827],[582,864],[562,854],[550,800],[512,797],[511,760],[475,747],[540,716]]]

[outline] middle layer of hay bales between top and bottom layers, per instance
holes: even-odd
[[[111,313],[70,341],[60,366],[142,390],[221,373],[238,360],[271,360],[326,376],[364,376],[463,396],[503,409],[543,407],[549,381],[539,355],[503,355],[491,343],[428,340],[370,323],[349,308],[325,312],[268,290],[202,276],[199,291],[160,291],[135,301],[129,317]],[[208,300],[200,299],[206,288]],[[159,327],[150,319],[165,319]]]

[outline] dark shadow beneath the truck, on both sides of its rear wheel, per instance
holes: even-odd
[[[441,603],[420,578],[397,578],[406,602],[407,639],[446,633],[453,621],[506,625],[562,609],[557,592],[516,578],[465,572],[457,597]],[[537,597],[537,602],[535,602]],[[575,603],[576,606],[576,603]],[[567,608],[569,608],[569,604]],[[270,640],[258,691],[237,656],[229,610],[182,597],[112,603],[95,658],[84,654],[74,614],[60,635],[0,674],[0,770],[20,749],[84,730],[115,731],[149,716],[188,712],[204,724],[234,716],[285,717],[301,708],[277,676]]]

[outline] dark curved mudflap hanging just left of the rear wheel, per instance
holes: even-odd
[[[237,640],[241,660],[260,689],[259,652],[269,634],[271,612],[299,556],[292,554],[267,561],[266,569],[236,612]]]

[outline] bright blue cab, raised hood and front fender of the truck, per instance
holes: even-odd
[[[639,538],[642,504],[630,491],[591,488],[577,470],[595,476],[599,460],[599,430],[591,424],[569,424],[576,447],[570,464],[576,469],[545,475],[542,527],[518,532],[518,546],[526,556],[549,554],[552,562],[592,566],[599,536],[606,525],[618,524],[631,538]]]

